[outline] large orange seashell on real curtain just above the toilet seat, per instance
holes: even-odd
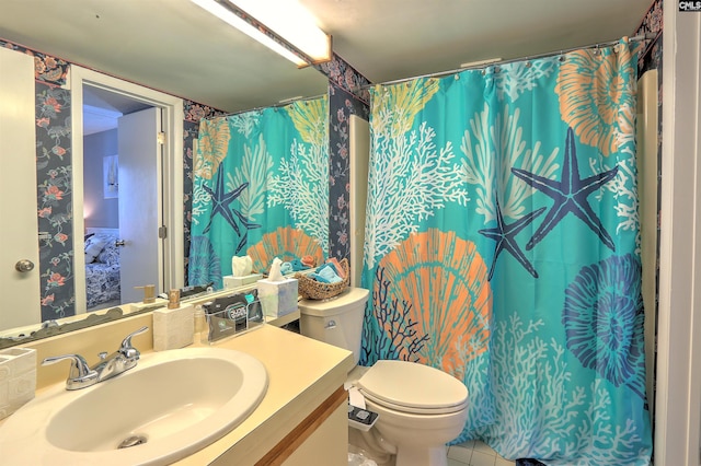
[[[411,305],[415,334],[405,345],[428,336],[420,362],[463,374],[487,349],[492,315],[487,267],[474,243],[436,229],[413,233],[379,267],[391,283],[387,299]]]

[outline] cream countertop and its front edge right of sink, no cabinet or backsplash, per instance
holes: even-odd
[[[349,351],[272,325],[216,345],[246,352],[266,368],[265,397],[239,427],[176,465],[253,465],[346,380]]]

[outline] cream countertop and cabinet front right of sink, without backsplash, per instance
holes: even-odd
[[[349,351],[272,325],[220,345],[261,360],[265,398],[237,429],[177,465],[347,465]]]

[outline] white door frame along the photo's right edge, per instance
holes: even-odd
[[[701,446],[701,15],[665,2],[656,465]]]

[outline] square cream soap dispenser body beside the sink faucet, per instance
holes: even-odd
[[[153,351],[192,345],[195,335],[195,307],[153,311]]]

